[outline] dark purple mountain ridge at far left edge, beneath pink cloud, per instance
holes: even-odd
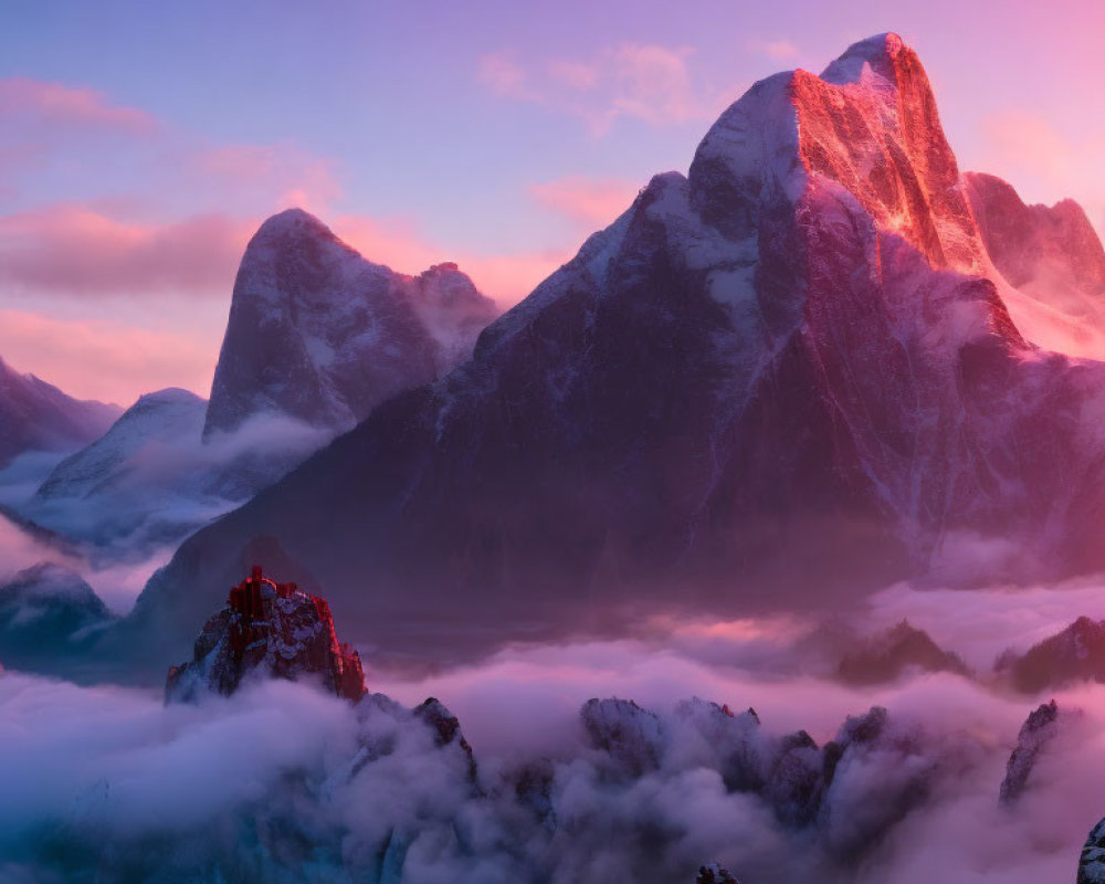
[[[73,399],[0,359],[0,467],[31,451],[74,451],[99,436],[122,409]]]

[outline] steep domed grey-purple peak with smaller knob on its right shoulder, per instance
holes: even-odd
[[[204,438],[255,414],[347,430],[466,358],[496,314],[455,264],[404,276],[281,212],[242,257]]]

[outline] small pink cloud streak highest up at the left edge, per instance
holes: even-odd
[[[51,124],[122,129],[148,135],[157,120],[137,107],[112,104],[95,90],[46,83],[25,77],[0,80],[0,119],[17,115]]]

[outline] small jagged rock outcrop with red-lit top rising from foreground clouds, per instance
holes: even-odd
[[[292,681],[318,678],[326,690],[354,702],[365,695],[360,655],[338,642],[326,600],[295,583],[270,580],[260,566],[208,620],[192,661],[169,670],[166,702],[193,699],[204,691],[229,695],[255,672]]]

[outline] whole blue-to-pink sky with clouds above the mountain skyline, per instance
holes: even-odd
[[[1096,0],[0,0],[0,357],[206,396],[242,250],[290,206],[508,306],[755,81],[884,31],[965,170],[1105,230],[1103,27]]]

